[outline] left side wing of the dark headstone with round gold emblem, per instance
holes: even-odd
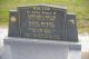
[[[9,37],[19,37],[19,19],[18,11],[10,10],[9,11]]]

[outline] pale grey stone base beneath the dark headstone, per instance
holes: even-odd
[[[78,57],[81,51],[81,45],[76,42],[10,37],[4,38],[3,42],[6,51],[11,51],[10,59],[71,59],[70,51],[79,52]]]

